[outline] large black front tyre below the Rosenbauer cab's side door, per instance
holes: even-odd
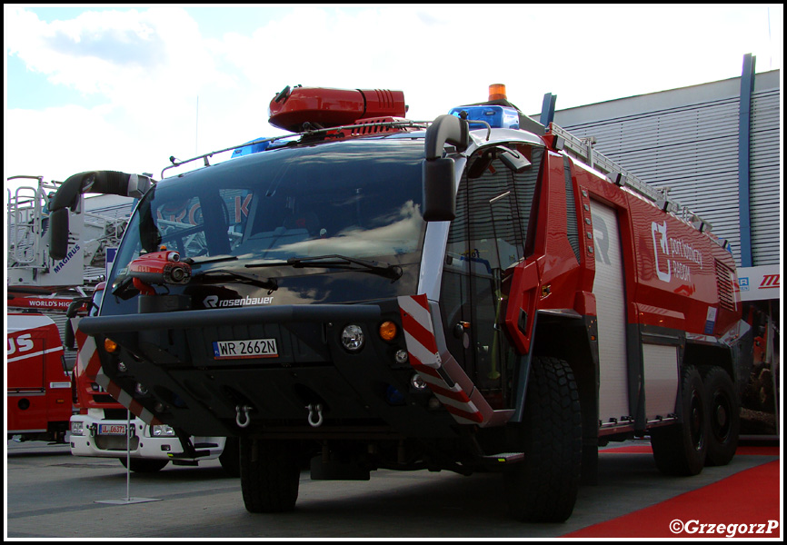
[[[571,516],[582,466],[582,413],[568,363],[533,358],[521,425],[514,430],[524,460],[504,473],[517,520],[563,522]]]

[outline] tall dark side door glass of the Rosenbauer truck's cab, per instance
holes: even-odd
[[[506,150],[526,161],[512,165]],[[541,155],[541,148],[515,145],[473,154],[448,235],[441,292],[448,348],[495,408],[505,406],[506,369],[513,366],[501,322],[503,276],[525,257]]]

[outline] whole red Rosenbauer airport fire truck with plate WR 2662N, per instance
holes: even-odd
[[[415,123],[401,92],[298,86],[270,111],[297,134],[155,184],[76,174],[53,213],[64,254],[82,193],[146,190],[79,327],[147,418],[240,437],[247,510],[294,509],[305,461],[500,471],[545,521],[608,441],[731,460],[751,334],[701,218],[502,96]]]

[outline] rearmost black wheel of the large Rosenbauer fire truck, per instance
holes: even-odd
[[[732,379],[721,367],[711,367],[702,375],[706,410],[710,422],[706,466],[727,465],[738,448],[741,406]]]

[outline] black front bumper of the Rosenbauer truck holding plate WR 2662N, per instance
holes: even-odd
[[[399,325],[391,342],[376,333],[385,320]],[[350,323],[364,330],[360,352],[341,345]],[[409,363],[394,359],[406,350],[395,300],[99,316],[79,327],[119,345],[113,354],[100,351],[111,380],[161,421],[192,435],[456,434],[446,411],[428,408],[431,393],[411,386]],[[216,358],[214,342],[249,339],[275,339],[277,356]],[[318,404],[323,418],[315,427],[308,407]],[[251,407],[248,426],[239,425],[244,406]]]

